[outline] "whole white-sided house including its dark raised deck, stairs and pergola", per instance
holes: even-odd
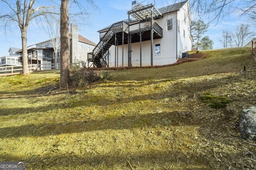
[[[153,66],[175,63],[192,49],[188,0],[157,9],[132,2],[128,20],[105,27],[88,54],[89,66]]]

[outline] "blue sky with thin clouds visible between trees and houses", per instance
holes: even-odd
[[[78,25],[79,34],[86,37],[94,43],[99,42],[98,30],[111,25],[117,21],[125,20],[128,18],[127,11],[131,9],[133,0],[95,0],[98,9],[88,6],[81,0],[82,5],[87,7],[86,10],[90,13],[90,16],[86,20],[81,21],[79,19],[74,19],[70,23],[75,23]],[[174,2],[181,2],[181,0],[137,0],[137,2],[142,2],[142,4],[153,3],[157,8],[168,6]],[[84,3],[84,4],[83,4]],[[244,4],[239,4],[240,0],[234,0],[238,6],[244,6]],[[3,2],[0,2],[0,10],[4,8]],[[77,6],[71,4],[71,11],[75,11]],[[200,16],[206,23],[212,21],[215,16]],[[192,12],[192,20],[200,19],[200,17]],[[222,48],[219,42],[222,30],[233,31],[237,25],[246,24],[248,18],[240,17],[240,13],[232,13],[230,15],[225,15],[218,22],[214,20],[208,27],[208,31],[203,36],[209,36],[210,39],[214,41],[214,49]],[[35,43],[45,41],[48,38],[48,34],[42,25],[46,24],[40,20],[32,20],[28,27],[28,46]],[[0,56],[9,55],[8,50],[10,47],[21,48],[21,33],[18,25],[10,25],[7,29],[0,27]]]

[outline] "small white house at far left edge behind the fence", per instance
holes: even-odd
[[[0,67],[2,66],[19,66],[22,65],[20,62],[18,62],[18,58],[20,55],[16,54],[16,51],[19,51],[20,49],[10,47],[9,49],[9,55],[0,57]],[[2,69],[1,69],[2,70]]]

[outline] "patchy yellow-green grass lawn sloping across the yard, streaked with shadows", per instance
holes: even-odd
[[[250,48],[203,53],[176,66],[110,70],[111,80],[69,95],[54,90],[59,71],[0,77],[0,161],[26,160],[28,169],[253,169],[256,148],[238,133],[238,114],[256,105]],[[210,103],[233,102],[211,108],[206,94]]]

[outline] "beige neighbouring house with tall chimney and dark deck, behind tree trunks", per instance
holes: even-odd
[[[91,53],[95,46],[95,43],[78,34],[78,26],[70,25],[70,63],[87,62],[87,53]],[[22,50],[17,53],[22,55]],[[60,64],[60,49],[55,54],[50,40],[28,47],[28,64],[41,64],[41,70],[55,67],[55,57],[57,57],[57,63]],[[19,61],[22,62],[22,57]]]

